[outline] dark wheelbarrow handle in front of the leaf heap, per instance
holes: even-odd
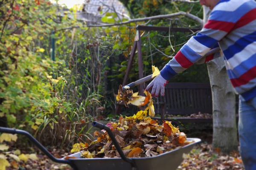
[[[102,123],[97,122],[97,121],[93,121],[93,126],[94,126],[94,127],[98,127],[100,130],[102,130],[102,129],[106,130],[107,133],[108,133],[108,135],[109,135],[109,137],[111,138],[111,140],[112,140],[114,146],[116,147],[116,150],[117,150],[117,152],[119,153],[120,157],[121,157],[124,161],[129,162],[133,168],[136,168],[136,164],[135,164],[134,160],[131,159],[131,158],[127,158],[127,157],[125,156],[125,154],[123,153],[121,147],[119,146],[118,142],[116,141],[115,136],[113,135],[113,133],[112,133],[112,131],[111,131],[111,129],[110,129],[109,127],[107,127],[107,126],[105,126],[105,124],[102,124]]]

